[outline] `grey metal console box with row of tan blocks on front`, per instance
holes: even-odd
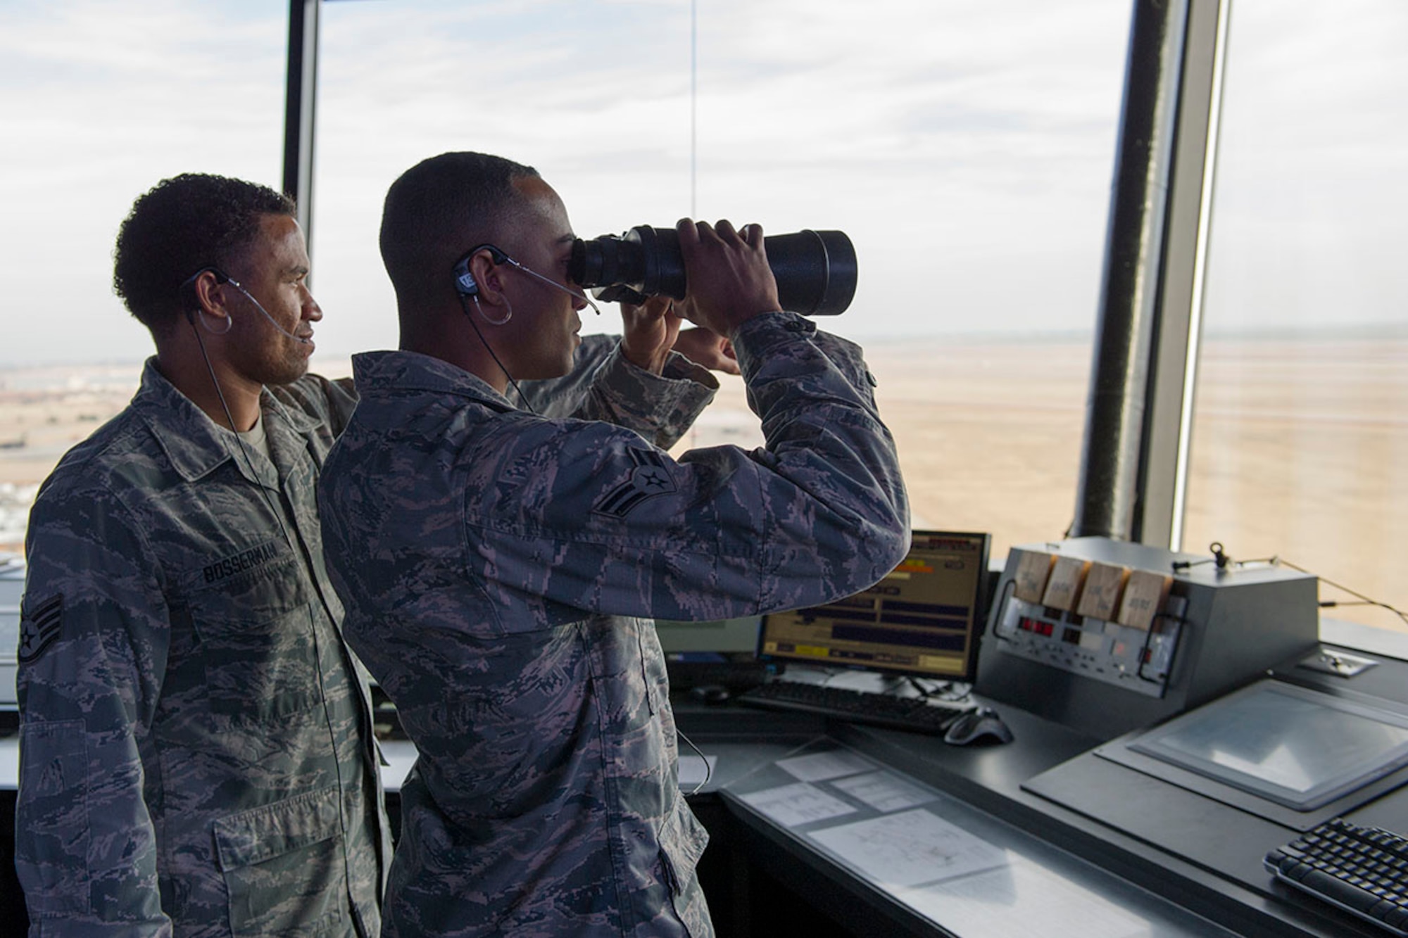
[[[1108,538],[1014,546],[977,693],[1114,738],[1314,651],[1314,576]]]

